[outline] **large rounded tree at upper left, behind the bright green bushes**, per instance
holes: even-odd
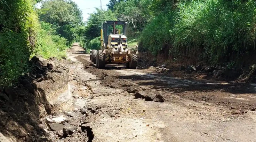
[[[82,11],[71,0],[44,1],[38,15],[41,21],[54,25],[57,33],[68,40],[69,46],[76,39],[76,26],[83,20]]]

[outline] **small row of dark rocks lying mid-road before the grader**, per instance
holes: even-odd
[[[155,94],[148,91],[139,91],[134,94],[137,99],[145,99],[145,101],[164,102],[164,98],[160,94]]]

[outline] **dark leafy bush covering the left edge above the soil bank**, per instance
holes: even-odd
[[[11,86],[28,70],[35,48],[37,16],[31,0],[1,0],[1,85]]]

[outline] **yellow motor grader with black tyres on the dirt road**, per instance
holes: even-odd
[[[105,64],[126,64],[127,68],[136,69],[138,46],[129,50],[126,35],[127,22],[105,21],[100,30],[101,47],[90,51],[90,60],[97,68],[103,69]]]

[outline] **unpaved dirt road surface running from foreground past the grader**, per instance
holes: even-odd
[[[78,43],[68,51],[74,108],[96,108],[86,117],[92,142],[255,142],[256,86],[173,78],[123,65],[89,66]],[[86,89],[80,89],[85,87]],[[164,102],[134,99],[145,90]],[[234,113],[236,112],[236,113]]]

